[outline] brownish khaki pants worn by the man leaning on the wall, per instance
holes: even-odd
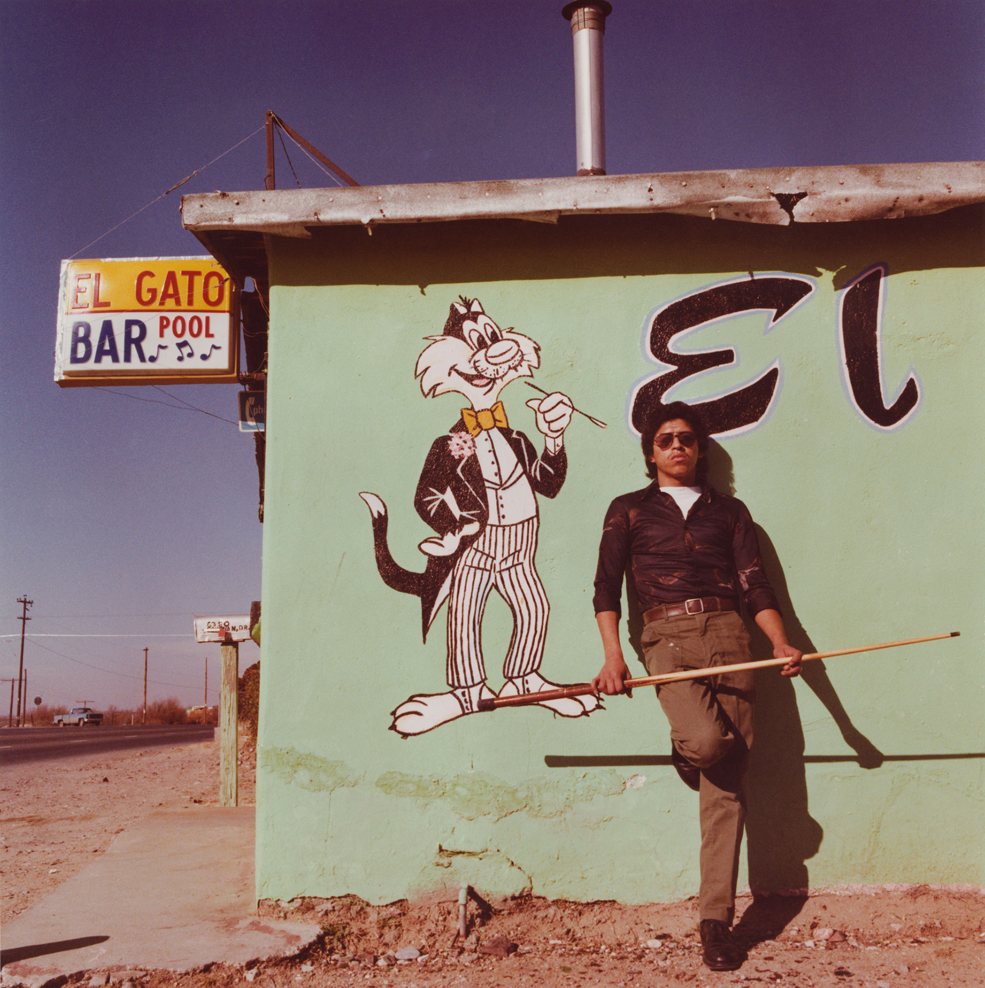
[[[742,618],[729,611],[651,621],[643,628],[641,644],[651,676],[751,658],[749,632]],[[701,770],[698,916],[731,924],[753,744],[753,674],[668,683],[656,690],[671,739]]]

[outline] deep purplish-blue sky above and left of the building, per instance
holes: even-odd
[[[981,0],[614,6],[610,174],[985,158]],[[560,7],[3,0],[0,634],[19,630],[23,593],[29,629],[49,635],[189,635],[192,614],[260,596],[252,440],[195,412],[59,389],[60,260],[202,254],[179,197],[262,188],[262,134],[86,245],[268,109],[364,185],[571,175]],[[327,184],[291,158],[303,185]],[[292,181],[279,156],[278,184]],[[235,418],[234,386],[169,390]],[[144,645],[150,699],[202,702],[208,656],[216,701],[217,646],[190,637],[29,640],[30,694],[133,705]],[[0,638],[0,677],[17,675],[18,648]],[[241,666],[258,654],[244,646]]]

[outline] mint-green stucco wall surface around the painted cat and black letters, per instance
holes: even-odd
[[[384,902],[461,882],[625,902],[697,890],[697,797],[669,765],[652,691],[587,718],[531,707],[407,740],[387,730],[402,700],[447,689],[445,612],[422,644],[417,599],[377,574],[359,493],[386,502],[394,556],[423,569],[416,546],[432,533],[414,490],[462,404],[422,396],[423,338],[441,333],[459,294],[533,337],[536,383],[610,424],[575,416],[568,479],[539,501],[550,600],[541,672],[591,678],[602,660],[591,604],[602,518],[646,483],[626,426],[630,389],[656,370],[640,348],[644,321],[750,272],[806,276],[816,289],[769,334],[762,312],[701,330],[689,347],[734,345],[740,365],[672,397],[720,393],[780,358],[772,416],[722,442],[714,475],[733,475],[763,529],[791,638],[829,650],[962,636],[813,663],[796,682],[759,676],[748,881],[981,883],[982,230],[975,207],[787,228],[595,216],[269,238],[258,897]],[[862,421],[840,373],[838,291],[876,262],[889,272],[887,398],[911,367],[922,389],[895,432]],[[532,396],[517,381],[504,403],[539,448]],[[494,689],[510,627],[494,593],[483,625]],[[628,649],[627,659],[635,666]]]

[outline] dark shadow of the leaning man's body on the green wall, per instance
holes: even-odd
[[[735,474],[728,453],[712,441],[707,461],[708,483],[722,494],[734,495]],[[780,603],[787,639],[804,653],[818,651],[790,600],[773,540],[760,526],[756,526],[756,531],[763,565]],[[642,617],[629,581],[627,586],[630,643],[642,658],[639,646]],[[753,659],[772,659],[769,639],[752,619],[747,618],[747,624],[752,635]],[[824,661],[806,663],[801,679],[831,714],[842,737],[856,752],[858,764],[863,769],[882,765],[882,753],[856,728],[839,700]],[[737,936],[749,945],[776,937],[803,908],[809,887],[806,863],[817,854],[824,838],[821,825],[808,809],[804,733],[795,688],[777,669],[763,669],[756,674],[754,730],[746,786],[749,801],[746,853],[753,903],[736,927]]]

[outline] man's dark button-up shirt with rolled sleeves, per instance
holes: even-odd
[[[640,611],[696,597],[723,597],[738,604],[740,588],[750,615],[780,610],[763,570],[749,509],[710,487],[701,492],[687,520],[656,481],[616,498],[606,513],[599,546],[596,614],[621,612],[627,563]]]

